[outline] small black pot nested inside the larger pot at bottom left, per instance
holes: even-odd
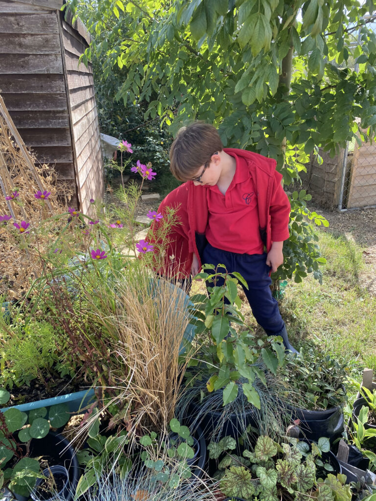
[[[52,501],[67,499],[70,491],[69,484],[69,473],[67,468],[56,464],[50,468],[46,468],[42,471],[44,478],[37,478],[34,489],[30,492],[30,497],[33,501]],[[51,487],[48,483],[49,480],[53,479],[54,491],[51,491]]]

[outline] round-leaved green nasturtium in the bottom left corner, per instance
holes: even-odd
[[[9,398],[10,393],[0,388],[0,404],[6,404]],[[40,460],[30,457],[31,440],[45,437],[50,426],[59,428],[69,417],[66,404],[33,409],[29,414],[16,408],[0,412],[0,468],[12,492],[28,496],[36,479],[43,478]]]

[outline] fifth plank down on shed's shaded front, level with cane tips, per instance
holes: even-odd
[[[4,94],[9,111],[66,110],[65,94]]]

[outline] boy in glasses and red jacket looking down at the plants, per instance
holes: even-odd
[[[275,160],[224,149],[214,126],[195,122],[178,132],[170,162],[172,174],[185,182],[158,209],[163,213],[174,207],[179,218],[169,234],[161,273],[167,275],[170,268],[175,279],[187,279],[199,273],[202,263],[239,272],[258,324],[269,336],[282,336],[286,349],[296,352],[270,291],[270,273],[283,263],[290,214]]]

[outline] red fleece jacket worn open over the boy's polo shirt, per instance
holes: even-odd
[[[286,240],[289,235],[288,222],[290,202],[283,191],[282,174],[277,172],[276,161],[252,151],[225,148],[229,155],[243,156],[249,167],[257,193],[260,232],[269,252],[273,241]],[[201,255],[206,238],[209,211],[207,188],[195,186],[193,181],[187,181],[171,191],[160,203],[158,212],[165,214],[167,207],[176,208],[178,223],[171,227],[166,254],[165,267],[159,270],[163,276],[183,279],[191,274],[193,253],[201,263]],[[152,242],[153,229],[158,221],[153,221],[148,233]],[[244,228],[247,231],[247,228]]]

